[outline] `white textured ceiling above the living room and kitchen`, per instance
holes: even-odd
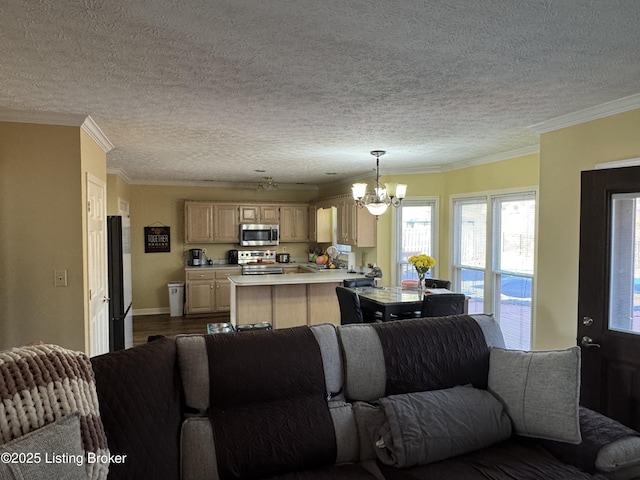
[[[433,171],[638,94],[639,26],[637,0],[3,0],[0,108],[91,115],[133,182]]]

